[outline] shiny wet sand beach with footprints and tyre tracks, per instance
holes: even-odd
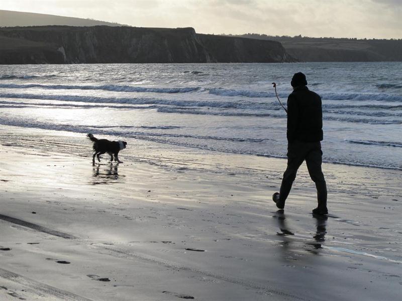
[[[305,165],[278,211],[285,160],[128,142],[2,127],[2,300],[400,297],[401,171],[324,164],[317,218]]]

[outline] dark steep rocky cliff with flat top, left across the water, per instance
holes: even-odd
[[[278,42],[197,35],[192,28],[0,28],[0,64],[289,61]]]

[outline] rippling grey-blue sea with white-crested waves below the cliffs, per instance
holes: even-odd
[[[286,158],[296,72],[323,100],[324,162],[402,170],[402,63],[0,66],[0,124]],[[158,144],[155,144],[158,145]]]

